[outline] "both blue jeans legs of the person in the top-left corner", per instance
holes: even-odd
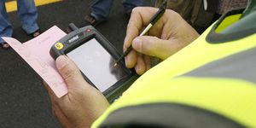
[[[39,27],[37,24],[38,13],[34,0],[17,0],[17,13],[20,19],[22,29],[31,34],[36,32]],[[13,27],[10,24],[9,16],[7,15],[4,0],[0,0],[0,37],[11,37]],[[0,44],[4,41],[0,38]]]

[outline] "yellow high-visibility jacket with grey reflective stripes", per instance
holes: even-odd
[[[256,127],[256,11],[223,15],[143,74],[93,127]]]

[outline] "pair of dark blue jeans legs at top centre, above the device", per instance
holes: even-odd
[[[96,20],[107,20],[113,0],[96,0],[91,6],[90,15]],[[143,0],[123,0],[125,13],[131,13],[131,10],[137,6],[143,6]]]

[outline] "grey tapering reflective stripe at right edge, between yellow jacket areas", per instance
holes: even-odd
[[[213,61],[184,75],[243,79],[256,83],[256,48]]]

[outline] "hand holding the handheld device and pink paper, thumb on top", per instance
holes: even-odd
[[[53,114],[64,128],[90,127],[108,108],[107,99],[84,80],[79,68],[67,56],[58,57],[55,65],[67,84],[68,94],[58,98],[44,82]]]

